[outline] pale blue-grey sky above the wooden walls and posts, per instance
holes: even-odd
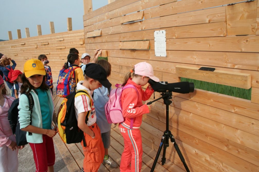
[[[108,4],[108,0],[92,0],[93,10]],[[83,29],[83,0],[0,0],[0,39],[17,39],[17,29],[25,38],[25,28],[30,36],[38,36],[37,25],[41,25],[42,35],[50,34],[49,22],[54,22],[55,33],[67,31],[67,18],[72,18],[72,30]]]

